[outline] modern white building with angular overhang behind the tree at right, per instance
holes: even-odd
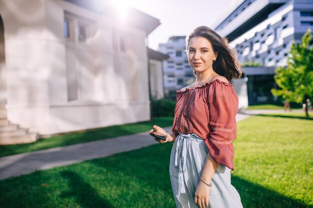
[[[239,0],[215,30],[231,40],[247,80],[249,104],[274,102],[274,69],[286,65],[292,41],[313,29],[312,0]]]

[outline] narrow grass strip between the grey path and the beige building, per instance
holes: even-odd
[[[52,136],[30,144],[0,146],[0,157],[135,134],[152,129],[154,124],[171,126],[173,124],[173,118],[157,117],[153,118],[152,121],[109,126],[84,132]]]

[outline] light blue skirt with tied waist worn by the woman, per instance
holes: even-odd
[[[195,188],[208,154],[204,140],[195,134],[181,134],[175,139],[169,164],[169,175],[177,208],[198,208]],[[230,184],[230,169],[218,164],[211,179],[209,208],[242,208],[240,196]]]

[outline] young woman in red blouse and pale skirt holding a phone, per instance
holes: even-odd
[[[172,142],[170,181],[177,208],[242,208],[230,184],[238,97],[228,81],[241,68],[214,30],[199,26],[186,37],[188,61],[195,82],[176,92],[172,133],[153,128]],[[152,135],[153,129],[149,131]]]

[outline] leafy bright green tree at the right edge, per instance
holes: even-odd
[[[288,102],[305,104],[308,117],[307,99],[313,98],[313,46],[311,30],[308,28],[301,43],[292,42],[287,57],[287,66],[279,66],[274,80],[280,89],[271,89],[275,96],[281,96]]]

